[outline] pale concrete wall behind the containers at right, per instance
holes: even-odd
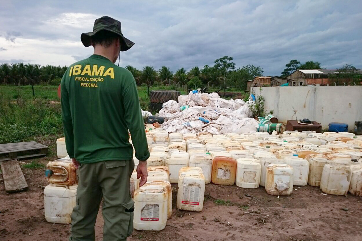
[[[256,97],[260,87],[252,87]],[[262,87],[265,111],[273,110],[279,121],[310,119],[328,129],[330,122],[348,124],[362,120],[362,86],[285,86]],[[294,110],[293,110],[294,107]]]

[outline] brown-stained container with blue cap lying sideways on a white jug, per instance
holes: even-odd
[[[51,184],[73,185],[78,182],[76,168],[72,159],[59,159],[48,162],[45,176]]]

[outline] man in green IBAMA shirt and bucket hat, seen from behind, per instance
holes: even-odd
[[[102,197],[103,240],[126,240],[133,231],[134,202],[130,176],[133,148],[140,160],[137,178],[147,181],[148,152],[136,82],[128,70],[115,65],[120,51],[134,43],[121,32],[121,22],[101,17],[93,32],[83,33],[94,54],[72,64],[61,82],[62,118],[67,152],[79,167],[77,205],[73,209],[70,241],[94,241],[94,224]]]

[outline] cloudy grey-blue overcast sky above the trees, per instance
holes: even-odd
[[[291,59],[362,68],[361,9],[361,0],[0,0],[0,63],[68,66],[93,53],[81,33],[110,16],[136,43],[120,66],[175,72],[227,55],[237,68],[253,64],[272,76]]]

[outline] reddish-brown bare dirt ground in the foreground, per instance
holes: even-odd
[[[0,177],[1,241],[66,241],[70,225],[44,218],[41,169],[24,169],[29,190],[7,194]],[[361,241],[362,198],[322,195],[319,188],[297,187],[290,197],[271,196],[264,188],[206,185],[202,212],[177,211],[173,185],[173,214],[163,231],[134,231],[131,241]],[[217,205],[215,199],[226,202]],[[223,203],[222,201],[216,201]],[[342,210],[342,208],[344,210]],[[96,240],[102,240],[101,211]]]

